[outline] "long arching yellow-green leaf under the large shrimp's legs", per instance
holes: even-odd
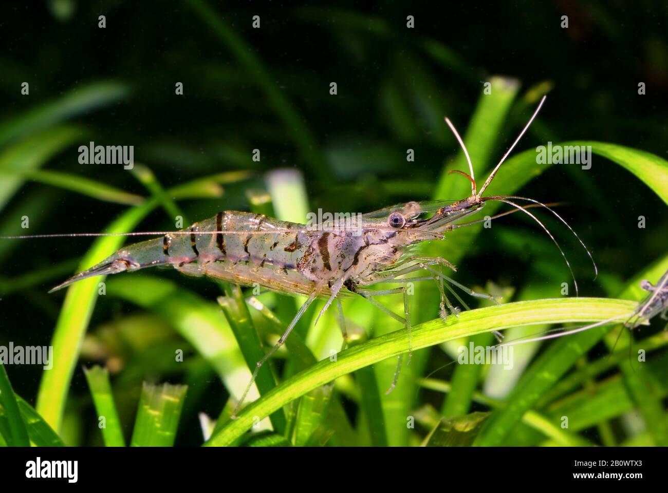
[[[413,328],[412,347],[421,349],[444,341],[518,325],[595,322],[628,317],[635,303],[617,299],[580,298],[520,301],[460,313],[448,321],[435,319]],[[206,443],[231,444],[248,428],[253,417],[263,418],[286,403],[333,379],[408,350],[408,335],[399,330],[375,337],[339,354],[337,361],[324,360],[284,381],[261,399],[248,405],[237,420],[228,423]]]

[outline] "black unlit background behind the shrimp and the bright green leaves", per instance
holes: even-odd
[[[81,144],[96,140],[134,145],[135,160],[150,166],[166,187],[225,170],[258,172],[250,185],[226,187],[219,201],[184,202],[193,220],[222,209],[247,210],[244,189],[262,186],[265,170],[283,167],[303,171],[313,210],[367,212],[402,200],[431,198],[444,163],[458,152],[442,117],[450,116],[463,134],[482,84],[492,75],[518,79],[519,96],[536,84],[551,87],[540,124],[518,150],[546,140],[600,140],[668,156],[665,2],[447,2],[427,9],[416,3],[209,1],[241,40],[239,51],[257,57],[259,71],[244,65],[194,5],[4,3],[2,122],[77,87],[118,81],[128,88],[127,97],[77,116],[77,123],[90,132]],[[98,15],[106,15],[106,29],[98,28]],[[252,29],[253,15],[260,15],[261,29]],[[415,16],[415,29],[406,29],[407,15]],[[568,15],[568,29],[560,27],[562,15]],[[428,43],[436,43],[448,61],[434,56]],[[289,101],[301,130],[281,120],[267,98],[265,80]],[[21,96],[23,81],[30,84],[29,96]],[[184,84],[184,96],[174,94],[177,81]],[[337,96],[329,95],[331,81],[338,84]],[[645,96],[637,93],[641,81],[647,85]],[[527,119],[526,111],[510,112],[494,156],[502,155]],[[298,143],[299,135],[305,138],[302,130],[313,144],[307,151]],[[77,146],[44,167],[145,194],[118,167],[80,165]],[[250,159],[253,148],[262,149],[260,163]],[[415,149],[414,163],[405,162],[406,148]],[[563,167],[552,166],[520,194],[565,203],[560,212],[590,247],[604,281],[606,276],[628,279],[665,253],[665,204],[647,186],[596,156],[582,180],[588,180],[587,186]],[[595,194],[586,192],[592,188]],[[1,204],[3,221],[18,220],[25,201],[37,198],[43,205],[31,222],[33,234],[100,231],[125,208],[28,182],[8,204]],[[647,228],[637,227],[639,215],[646,216]],[[521,219],[509,218],[505,224],[538,234]],[[170,227],[162,211],[141,225]],[[472,245],[458,279],[510,285],[526,281],[534,258],[509,257],[495,234]],[[86,238],[70,238],[4,247],[0,343],[47,343],[61,294],[45,292],[60,278],[20,291],[11,289],[11,280],[71,261],[89,245]],[[599,281],[591,281],[584,253],[568,247],[566,255],[582,279],[582,293],[602,295]],[[545,256],[561,262],[556,250]],[[180,279],[176,273],[166,275]],[[206,282],[180,282],[205,297],[217,293]],[[91,327],[123,310],[128,308],[120,301],[100,304]],[[12,369],[10,377],[33,403],[41,369],[31,371]],[[73,385],[85,396],[86,383],[79,373]],[[215,408],[219,401],[213,401]]]

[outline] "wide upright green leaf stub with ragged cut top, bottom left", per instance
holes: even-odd
[[[144,382],[137,419],[132,432],[133,447],[171,447],[186,397],[187,385],[152,385]]]

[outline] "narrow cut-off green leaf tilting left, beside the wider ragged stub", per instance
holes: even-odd
[[[98,426],[101,418],[104,418],[102,437],[104,444],[108,447],[124,447],[123,429],[116,412],[112,384],[109,381],[109,370],[101,366],[84,368],[90,393],[93,396],[95,409],[98,412]]]

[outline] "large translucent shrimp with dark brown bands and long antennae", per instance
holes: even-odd
[[[415,244],[426,240],[442,239],[444,233],[454,228],[478,222],[456,223],[456,221],[478,212],[490,200],[513,206],[514,210],[512,212],[521,210],[540,225],[556,244],[564,258],[577,293],[577,283],[564,252],[550,231],[534,214],[528,211],[528,208],[540,206],[549,210],[556,218],[566,224],[591,258],[591,253],[589,253],[585,244],[568,226],[566,221],[548,205],[537,200],[519,196],[482,195],[496,176],[496,172],[498,172],[504,160],[536,118],[544,101],[545,96],[540,100],[529,122],[492,170],[480,190],[477,190],[476,187],[474,170],[466,146],[464,146],[464,142],[452,122],[446,118],[446,123],[450,126],[466,155],[470,170],[470,174],[456,170],[459,174],[466,176],[472,183],[471,195],[463,200],[456,202],[407,202],[369,214],[362,214],[361,224],[355,224],[353,227],[337,221],[309,227],[304,224],[269,218],[263,214],[229,210],[218,212],[216,216],[196,222],[186,230],[129,233],[128,235],[132,236],[138,234],[163,234],[163,236],[123,247],[90,269],[73,275],[51,289],[49,293],[94,276],[118,274],[124,271],[137,271],[145,267],[165,265],[174,267],[174,269],[186,275],[208,276],[241,286],[259,284],[279,293],[306,295],[307,300],[289,323],[285,333],[274,347],[257,362],[251,381],[236,405],[234,416],[236,416],[248,390],[253,385],[260,367],[285,343],[297,321],[315,299],[327,300],[319,312],[316,319],[317,323],[319,317],[325,313],[333,301],[337,302],[339,315],[342,315],[341,298],[354,295],[363,296],[387,315],[405,325],[409,336],[409,355],[411,354],[411,322],[407,289],[403,286],[394,289],[374,289],[374,285],[391,282],[437,281],[442,316],[447,316],[446,306],[451,315],[456,315],[458,312],[458,309],[450,303],[446,296],[444,285],[463,305],[465,303],[452,287],[461,289],[474,297],[494,300],[490,295],[476,293],[476,291],[444,275],[444,267],[452,271],[456,270],[454,265],[446,259],[413,255],[411,253],[411,247]],[[516,203],[516,200],[524,200],[530,202],[530,204],[520,206]],[[504,212],[494,217],[500,217],[508,213]],[[77,234],[75,236],[97,236],[97,234]],[[25,237],[17,236],[16,238]],[[426,272],[427,275],[424,277],[404,277],[417,271]],[[374,299],[374,297],[391,294],[403,294],[404,317],[395,314]],[[339,319],[339,325],[341,325],[345,347],[347,341],[345,321],[342,316],[337,317],[337,319]],[[403,355],[398,357],[397,371],[388,393],[397,381],[402,357]]]

